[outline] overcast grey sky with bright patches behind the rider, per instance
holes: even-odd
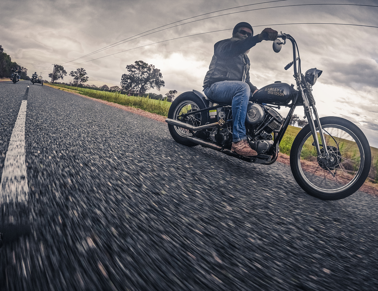
[[[51,64],[62,64],[67,72],[84,68],[89,76],[87,84],[96,86],[119,86],[121,75],[127,73],[126,65],[142,60],[161,70],[165,87],[160,93],[164,95],[168,90],[179,93],[202,90],[215,42],[231,37],[236,23],[250,23],[254,34],[271,27],[296,39],[303,72],[313,67],[323,70],[313,87],[319,115],[352,121],[363,130],[370,145],[378,148],[378,28],[282,25],[316,22],[378,26],[378,7],[308,5],[259,9],[315,3],[378,5],[378,2],[285,0],[250,5],[260,2],[263,1],[2,0],[0,44],[12,61],[28,69],[29,76],[37,71],[48,79],[53,69]],[[243,5],[249,6],[229,9]],[[210,13],[222,9],[228,10]],[[251,9],[259,10],[245,11]],[[206,15],[177,22],[201,14]],[[212,18],[204,19],[207,17]],[[194,20],[198,21],[191,22]],[[172,22],[177,23],[164,26]],[[169,28],[178,24],[183,25]],[[159,26],[164,27],[152,30]],[[145,31],[152,30],[151,33],[164,28],[168,29],[143,36]],[[206,33],[216,30],[226,31]],[[206,34],[184,37],[198,33]],[[69,62],[138,34],[143,37]],[[177,37],[183,38],[169,40]],[[161,42],[163,40],[169,41]],[[161,43],[149,45],[155,42]],[[143,45],[147,46],[141,47]],[[120,51],[124,52],[118,53]],[[108,54],[114,55],[101,58]],[[280,53],[274,53],[272,43],[263,41],[253,47],[248,56],[251,82],[258,88],[277,80],[294,83],[292,68],[283,69],[292,60],[290,44],[283,46]],[[90,61],[96,58],[101,59]],[[69,80],[70,76],[64,78],[65,82]],[[287,114],[285,109],[280,112]],[[303,108],[297,107],[294,113],[301,118],[304,116]]]

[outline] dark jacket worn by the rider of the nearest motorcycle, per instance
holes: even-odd
[[[258,35],[243,40],[231,38],[218,41],[214,45],[214,55],[203,81],[203,87],[209,87],[220,81],[244,81],[251,88],[251,92],[257,90],[249,79],[250,62],[245,52],[259,42],[261,41]]]

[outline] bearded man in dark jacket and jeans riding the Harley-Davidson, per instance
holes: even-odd
[[[266,34],[264,34],[266,33]],[[257,153],[246,140],[245,118],[250,95],[257,91],[249,78],[249,49],[262,40],[275,40],[278,32],[265,28],[253,36],[253,28],[247,22],[235,25],[231,39],[218,41],[209,71],[203,81],[203,92],[217,103],[232,104],[232,146],[241,156],[252,157]]]

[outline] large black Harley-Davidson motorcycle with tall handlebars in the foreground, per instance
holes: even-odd
[[[282,39],[282,40],[279,40]],[[273,164],[279,145],[296,106],[303,106],[308,124],[299,131],[290,151],[294,179],[309,195],[322,200],[338,200],[355,193],[370,171],[371,152],[364,133],[355,124],[340,117],[321,117],[315,107],[311,87],[322,71],[301,71],[296,41],[282,33],[273,42],[278,53],[290,40],[293,46],[294,85],[276,81],[259,89],[250,98],[245,120],[247,141],[257,156],[245,157],[231,151],[231,104],[217,104],[202,92],[193,90],[177,96],[170,106],[169,132],[178,143],[201,145],[246,162]],[[286,118],[276,109],[290,108]]]

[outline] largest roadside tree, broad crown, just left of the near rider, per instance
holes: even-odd
[[[149,65],[143,61],[135,61],[135,65],[127,65],[129,74],[122,74],[121,87],[122,90],[131,93],[143,95],[147,90],[156,88],[160,91],[161,86],[164,87],[165,82],[158,68]]]

